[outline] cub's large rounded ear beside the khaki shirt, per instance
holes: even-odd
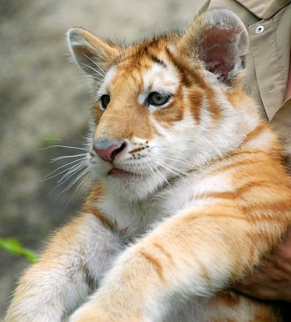
[[[235,13],[215,8],[194,18],[180,41],[180,49],[202,61],[220,82],[231,85],[245,67],[248,32]]]

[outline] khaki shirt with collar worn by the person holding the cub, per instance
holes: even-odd
[[[248,29],[246,90],[274,123],[291,154],[291,99],[285,102],[291,51],[291,0],[208,0],[207,8],[229,8]]]

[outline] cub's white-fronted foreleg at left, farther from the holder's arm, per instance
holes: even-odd
[[[83,214],[59,229],[20,279],[6,322],[62,321],[97,288],[122,247],[118,234],[100,218]]]

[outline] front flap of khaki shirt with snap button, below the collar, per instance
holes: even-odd
[[[264,26],[262,34],[257,26]],[[269,20],[248,27],[250,49],[260,96],[271,121],[283,104],[288,79],[291,40],[291,5],[285,6]]]

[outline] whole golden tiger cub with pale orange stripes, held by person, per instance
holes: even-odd
[[[241,20],[213,9],[128,47],[80,28],[68,42],[94,80],[94,184],[6,321],[282,321],[229,289],[291,222],[281,144],[243,91]]]

